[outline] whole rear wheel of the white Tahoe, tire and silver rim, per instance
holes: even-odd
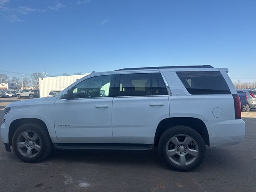
[[[162,134],[158,150],[162,160],[173,170],[191,171],[203,162],[205,143],[194,129],[173,126]]]

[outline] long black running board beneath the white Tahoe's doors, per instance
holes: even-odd
[[[154,145],[147,144],[54,144],[60,150],[152,150]]]

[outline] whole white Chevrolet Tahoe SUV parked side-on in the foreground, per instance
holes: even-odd
[[[55,97],[6,106],[1,136],[24,162],[62,150],[150,150],[174,170],[198,167],[210,147],[244,139],[228,69],[126,68],[90,74]]]

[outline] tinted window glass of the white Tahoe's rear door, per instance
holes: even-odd
[[[117,96],[168,95],[160,73],[120,74],[119,76]]]

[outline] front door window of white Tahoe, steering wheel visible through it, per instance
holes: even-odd
[[[111,75],[96,76],[86,79],[73,88],[71,98],[108,97]]]

